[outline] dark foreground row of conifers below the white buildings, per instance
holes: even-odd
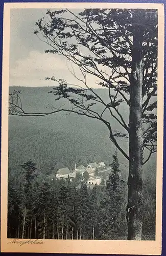
[[[117,155],[106,185],[89,187],[77,178],[49,180],[36,175],[35,163],[9,170],[8,238],[127,239],[127,184],[121,179]],[[155,239],[155,186],[144,188],[143,239]]]

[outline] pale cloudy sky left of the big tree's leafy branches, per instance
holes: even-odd
[[[45,9],[11,9],[10,86],[54,86],[53,81],[44,80],[53,75],[82,85],[69,73],[65,58],[44,53],[48,46],[33,33],[35,22],[45,12]],[[79,74],[77,68],[76,73]],[[89,75],[87,81],[90,87],[99,87],[93,76]]]

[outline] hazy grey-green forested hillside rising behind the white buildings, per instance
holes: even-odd
[[[49,94],[52,88],[11,87],[21,91],[23,109],[27,112],[49,112],[51,105],[64,104],[56,102],[54,95]],[[99,90],[107,101],[107,91]],[[66,102],[65,102],[66,104]],[[97,107],[96,107],[97,108]],[[109,113],[106,113],[110,118]],[[127,120],[128,112],[123,109]],[[112,119],[112,127],[119,127]],[[128,153],[128,141],[119,139],[120,144]],[[112,161],[114,146],[109,140],[105,125],[95,119],[89,119],[76,114],[57,113],[43,117],[9,116],[9,168],[18,170],[19,164],[32,159],[37,168],[44,174],[50,174],[60,167],[74,168],[76,165],[86,165],[89,162]],[[128,162],[120,153],[118,155],[123,172],[128,171]],[[145,165],[155,164],[154,160]]]

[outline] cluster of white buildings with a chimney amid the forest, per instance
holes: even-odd
[[[95,184],[100,185],[101,178],[95,174],[97,169],[102,169],[102,168],[105,168],[104,162],[100,162],[98,164],[96,162],[89,163],[86,167],[84,165],[80,165],[76,167],[76,164],[75,164],[74,170],[69,170],[68,167],[60,168],[56,174],[51,174],[48,178],[53,180],[54,178],[67,179],[69,177],[70,181],[72,181],[73,179],[76,178],[76,174],[80,174],[84,177],[84,173],[87,172],[88,179],[86,179],[86,183],[93,184],[93,185]],[[82,179],[84,179],[85,181],[85,178],[82,178]]]

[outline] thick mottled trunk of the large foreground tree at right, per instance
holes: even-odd
[[[141,240],[142,231],[142,86],[143,54],[141,52],[143,30],[133,33],[132,72],[129,116],[129,177],[128,177],[128,240]]]

